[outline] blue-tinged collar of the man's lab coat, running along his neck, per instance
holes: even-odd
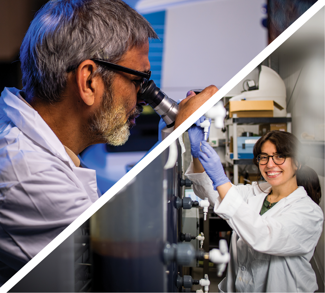
[[[0,113],[3,112],[24,134],[62,161],[74,166],[63,144],[43,118],[18,98],[19,89],[5,87],[0,98]]]

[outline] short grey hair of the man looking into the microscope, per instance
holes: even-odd
[[[50,0],[36,13],[20,47],[25,95],[58,102],[67,71],[91,58],[117,62],[148,38],[158,36],[121,0]]]

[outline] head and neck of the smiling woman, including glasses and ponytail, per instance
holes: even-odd
[[[319,204],[321,192],[318,176],[313,169],[305,165],[300,142],[293,134],[278,130],[269,131],[256,142],[253,154],[253,163],[272,186],[272,194],[268,195],[270,203],[278,202],[298,186],[303,186],[309,197]]]

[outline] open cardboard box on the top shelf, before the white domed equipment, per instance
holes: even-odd
[[[268,101],[229,101],[229,117],[237,114],[237,117],[273,117],[273,109],[282,110],[277,102]]]

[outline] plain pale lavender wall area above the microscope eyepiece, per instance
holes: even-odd
[[[200,1],[166,9],[162,90],[172,99],[222,87],[267,45],[264,0]]]

